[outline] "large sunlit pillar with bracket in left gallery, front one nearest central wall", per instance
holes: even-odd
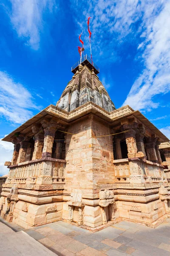
[[[42,127],[44,128],[44,146],[42,149],[42,157],[51,157],[57,124],[53,120],[48,122],[47,119],[42,119],[41,123]]]

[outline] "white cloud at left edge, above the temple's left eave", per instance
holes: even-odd
[[[15,82],[7,73],[0,71],[0,115],[11,123],[23,123],[33,116],[31,110],[39,109],[31,93]]]

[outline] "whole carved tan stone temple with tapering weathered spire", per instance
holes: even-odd
[[[24,228],[58,220],[91,230],[121,220],[158,226],[170,217],[168,138],[139,111],[115,108],[87,56],[72,72],[56,106],[3,139],[14,154],[0,215]]]

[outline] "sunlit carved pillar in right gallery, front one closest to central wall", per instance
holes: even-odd
[[[133,129],[130,129],[129,131],[125,132],[128,158],[135,157],[135,154],[137,153],[135,134],[136,134],[136,131]]]

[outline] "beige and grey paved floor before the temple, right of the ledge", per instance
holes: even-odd
[[[23,230],[17,225],[11,228]],[[170,219],[156,229],[121,221],[93,233],[57,221],[24,232],[58,256],[170,256]]]

